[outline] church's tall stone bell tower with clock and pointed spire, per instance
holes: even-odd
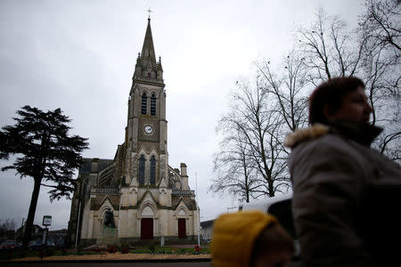
[[[166,92],[161,58],[156,61],[151,19],[138,53],[128,99],[123,176],[126,186],[168,185]]]

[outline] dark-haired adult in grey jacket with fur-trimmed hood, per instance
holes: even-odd
[[[309,98],[310,127],[291,148],[292,213],[306,266],[401,261],[400,166],[370,148],[381,128],[357,77],[336,77]]]

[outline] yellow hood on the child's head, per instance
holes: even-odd
[[[277,219],[261,211],[222,214],[213,223],[211,242],[214,267],[248,267],[253,243],[259,233]]]

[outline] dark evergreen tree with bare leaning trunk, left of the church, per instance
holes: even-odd
[[[52,202],[62,197],[70,199],[76,182],[74,170],[82,164],[80,153],[88,148],[88,142],[78,135],[69,135],[71,120],[61,109],[44,112],[25,106],[17,114],[20,117],[13,117],[15,125],[4,126],[0,131],[0,159],[17,155],[12,165],[1,170],[13,169],[20,178],[34,179],[22,242],[23,247],[28,247],[40,187],[52,188],[49,191]]]

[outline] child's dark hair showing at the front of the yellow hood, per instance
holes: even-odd
[[[270,223],[260,232],[253,243],[250,266],[253,266],[259,256],[282,250],[294,254],[294,241],[280,224]]]

